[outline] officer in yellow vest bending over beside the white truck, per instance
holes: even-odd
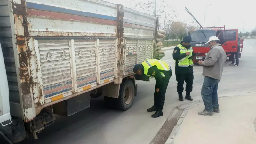
[[[161,60],[147,59],[141,64],[136,64],[133,68],[133,72],[138,75],[147,75],[155,77],[155,93],[154,93],[154,105],[147,109],[148,112],[156,111],[151,117],[163,116],[163,106],[165,100],[165,93],[172,76],[171,66]]]

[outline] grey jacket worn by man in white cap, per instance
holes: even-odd
[[[214,79],[221,79],[224,63],[227,60],[226,52],[221,44],[216,44],[211,47],[202,62],[203,76],[212,77]]]

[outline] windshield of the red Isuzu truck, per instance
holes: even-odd
[[[215,30],[197,30],[191,32],[192,42],[206,43],[211,36],[215,36]]]

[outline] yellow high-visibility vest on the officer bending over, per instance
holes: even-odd
[[[144,67],[144,74],[148,75],[148,69],[152,66],[156,66],[159,70],[165,70],[165,71],[169,71],[171,70],[171,66],[168,65],[167,63],[165,63],[162,60],[157,60],[157,59],[147,59],[144,60],[141,63]],[[161,72],[162,77],[164,77],[164,73]],[[151,76],[151,75],[150,75]]]

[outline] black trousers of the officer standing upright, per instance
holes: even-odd
[[[177,85],[177,92],[181,94],[184,90],[183,84],[184,81],[186,84],[186,92],[189,94],[192,92],[193,89],[193,80],[194,80],[194,74],[193,73],[187,73],[187,74],[176,74],[176,81],[178,82]]]

